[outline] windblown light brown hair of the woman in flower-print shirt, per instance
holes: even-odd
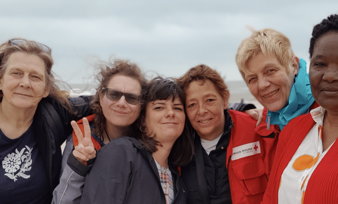
[[[0,45],[0,78],[3,77],[6,71],[10,55],[16,52],[36,55],[43,60],[45,63],[46,89],[49,89],[48,96],[58,100],[68,111],[73,112],[71,110],[70,103],[67,100],[67,97],[69,97],[68,92],[61,91],[55,83],[56,79],[54,78],[54,74],[51,70],[53,65],[51,50],[49,52],[42,51],[38,42],[25,40],[23,43],[12,45],[10,41],[7,41]],[[0,101],[2,101],[2,97],[3,92],[0,90]]]

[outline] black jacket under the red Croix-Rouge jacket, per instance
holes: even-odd
[[[230,184],[228,178],[228,172],[226,169],[226,148],[229,144],[229,138],[233,122],[230,114],[227,110],[224,111],[225,126],[224,132],[219,139],[216,149],[212,150],[208,156],[206,150],[201,146],[201,140],[198,134],[195,132],[194,145],[196,148],[202,151],[204,175],[208,184],[208,193],[211,204],[230,204]],[[182,179],[187,186],[188,190],[188,204],[202,204],[198,180],[196,171],[196,157],[192,158],[192,161],[181,167]]]

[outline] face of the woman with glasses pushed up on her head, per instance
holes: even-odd
[[[45,63],[36,55],[16,52],[9,56],[0,79],[2,104],[16,108],[35,108],[47,97]]]

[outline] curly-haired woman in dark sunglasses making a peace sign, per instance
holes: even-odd
[[[69,158],[52,203],[79,203],[96,150],[137,130],[135,121],[140,116],[140,100],[146,85],[140,68],[126,61],[100,64],[99,68],[100,85],[91,102],[94,115],[72,122],[74,132],[67,139],[64,161],[68,155]]]

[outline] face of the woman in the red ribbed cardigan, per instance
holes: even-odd
[[[329,32],[315,42],[310,63],[311,91],[328,111],[338,111],[338,32]]]

